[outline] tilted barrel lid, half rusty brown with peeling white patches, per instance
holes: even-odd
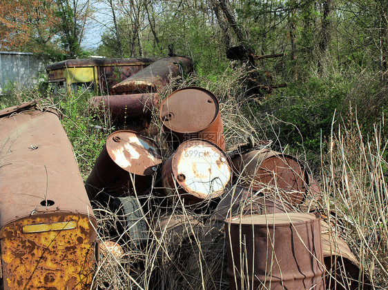
[[[122,130],[110,134],[106,140],[110,158],[122,169],[136,175],[152,175],[162,163],[159,149],[137,132]]]

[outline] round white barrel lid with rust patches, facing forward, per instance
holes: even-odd
[[[182,143],[172,160],[177,183],[197,198],[216,198],[224,193],[231,180],[231,166],[217,145],[204,140]]]

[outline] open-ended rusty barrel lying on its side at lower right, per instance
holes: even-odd
[[[324,265],[331,275],[327,275],[328,289],[369,289],[369,280],[365,276],[364,284],[358,285],[360,264],[347,243],[335,231],[321,220],[322,250]]]

